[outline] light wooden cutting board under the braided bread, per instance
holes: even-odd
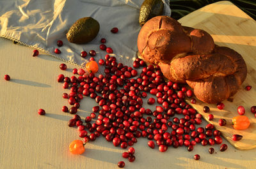
[[[233,97],[233,101],[223,101],[224,110],[218,110],[216,105],[209,105],[198,100],[191,106],[208,121],[208,114],[203,111],[203,107],[207,105],[211,110],[210,113],[214,115],[214,120],[208,122],[214,124],[215,128],[219,129],[228,142],[237,149],[255,148],[256,118],[250,108],[256,106],[256,21],[229,1],[220,1],[180,18],[179,22],[183,26],[204,29],[211,34],[217,45],[233,48],[243,56],[248,68],[248,75]],[[251,85],[252,89],[246,91],[244,89],[246,85]],[[187,101],[190,103],[190,99]],[[245,115],[250,118],[251,122],[248,129],[241,131],[233,129],[231,124],[232,117],[239,115],[237,107],[240,105],[245,108]],[[225,127],[218,124],[221,118],[227,120]],[[231,138],[234,134],[243,135],[243,139],[234,142]]]

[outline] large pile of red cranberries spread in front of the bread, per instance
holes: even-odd
[[[205,128],[196,127],[201,124],[202,115],[184,101],[186,97],[193,96],[193,92],[177,83],[165,82],[159,66],[147,66],[143,60],[136,59],[132,68],[116,62],[116,58],[108,54],[105,59],[99,60],[99,64],[104,66],[105,75],[96,76],[81,71],[78,77],[61,74],[57,79],[63,82],[64,89],[70,90],[63,93],[70,108],[62,107],[63,112],[74,114],[68,126],[77,126],[84,142],[93,142],[102,135],[115,147],[127,149],[130,146],[128,152],[122,154],[130,162],[135,160],[131,146],[140,137],[147,138],[152,149],[157,145],[161,152],[171,146],[184,146],[193,151],[196,144],[222,143],[220,131],[214,130],[212,124],[207,124]],[[138,73],[136,68],[142,71]],[[73,73],[77,72],[74,69]],[[94,99],[99,105],[92,108],[90,116],[81,119],[77,111],[84,97]],[[156,105],[156,108],[144,108],[143,98],[148,98],[147,103]],[[209,107],[204,110],[210,111]],[[123,162],[120,161],[118,166],[123,166]]]

